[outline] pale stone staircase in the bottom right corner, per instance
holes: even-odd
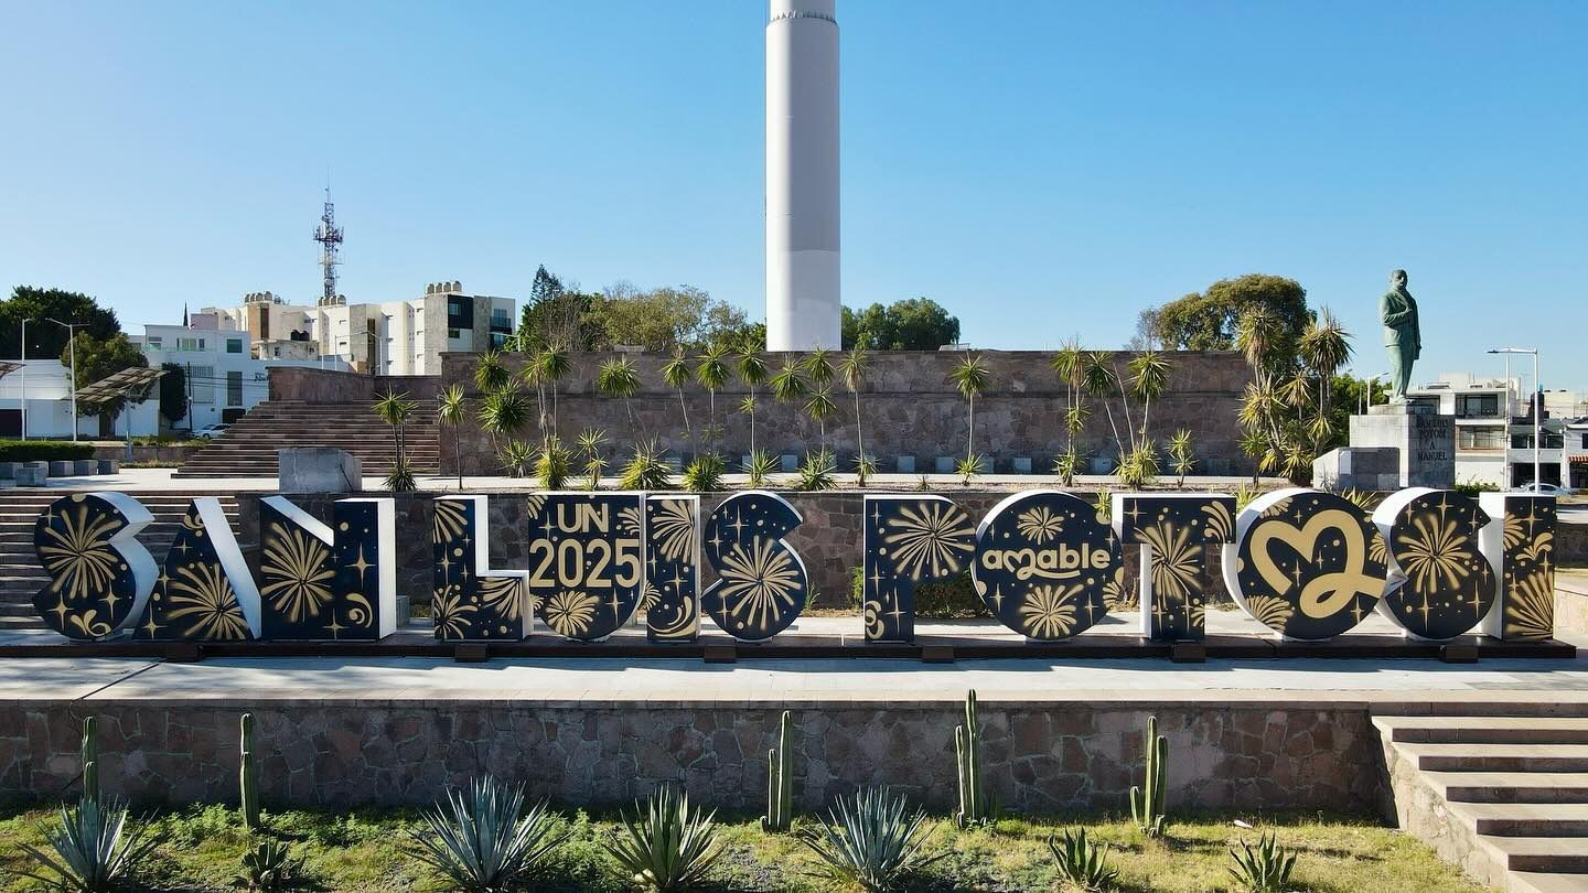
[[[1588,713],[1583,706],[1507,712]],[[1374,717],[1401,828],[1509,893],[1588,890],[1588,715]]]

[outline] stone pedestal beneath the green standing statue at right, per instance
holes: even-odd
[[[1372,489],[1405,489],[1409,486],[1448,489],[1456,485],[1456,419],[1439,415],[1432,407],[1412,404],[1367,407],[1367,415],[1351,416],[1350,443],[1343,450],[1345,453],[1374,451],[1377,461],[1367,464],[1374,466],[1372,470],[1380,480],[1378,486]],[[1382,467],[1382,462],[1388,459],[1383,450],[1396,451],[1393,488],[1383,486],[1391,483],[1390,475],[1385,474],[1388,469]],[[1363,459],[1367,456],[1364,454]],[[1342,486],[1353,486],[1343,481],[1348,477],[1358,477],[1347,474],[1356,472],[1355,466],[1355,458],[1345,461],[1339,475]],[[1366,489],[1367,483],[1364,480],[1355,486]]]

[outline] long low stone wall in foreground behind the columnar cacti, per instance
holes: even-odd
[[[699,802],[745,812],[765,802],[781,713],[773,704],[11,702],[0,704],[0,791],[71,790],[92,713],[106,793],[235,802],[245,710],[267,807],[426,804],[491,772],[569,807],[681,783]],[[1366,812],[1380,801],[1382,755],[1363,706],[983,702],[985,779],[1019,812],[1121,810],[1148,713],[1169,737],[1172,809]],[[810,812],[886,783],[950,810],[961,718],[958,702],[796,707],[794,806]]]

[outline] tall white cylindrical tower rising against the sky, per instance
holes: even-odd
[[[840,346],[835,0],[767,21],[767,350]]]

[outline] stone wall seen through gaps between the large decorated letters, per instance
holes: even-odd
[[[238,540],[245,543],[259,542],[259,499],[265,494],[238,493],[240,508]],[[351,496],[351,494],[349,494]],[[391,496],[370,493],[365,496]],[[524,493],[492,494],[491,507],[491,566],[495,569],[529,567],[529,507]],[[700,518],[716,508],[726,499],[726,493],[708,493],[700,497]],[[821,607],[845,607],[850,604],[850,574],[861,566],[861,539],[864,493],[781,493],[796,510],[805,518],[788,542],[799,550],[810,574],[815,597],[811,604]],[[1008,496],[1000,491],[966,489],[943,491],[973,520],[981,518],[992,505]],[[430,602],[430,524],[432,499],[430,493],[397,494],[397,593],[411,604]],[[1088,494],[1083,497],[1089,499]],[[330,521],[330,504],[338,496],[310,494],[289,496],[305,512]],[[1140,566],[1140,547],[1124,547],[1126,591],[1134,591],[1135,572]],[[1224,596],[1224,583],[1218,575],[1218,547],[1205,547],[1205,591],[1210,604],[1229,601]],[[254,572],[257,574],[257,567]],[[710,566],[703,566],[705,582],[715,578]]]

